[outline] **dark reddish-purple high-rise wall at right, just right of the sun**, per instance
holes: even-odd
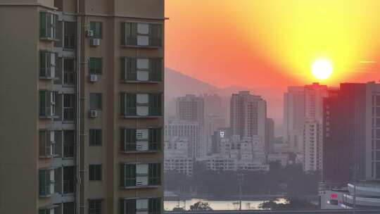
[[[365,179],[365,105],[365,84],[341,84],[324,99],[324,182],[350,182],[355,168]]]

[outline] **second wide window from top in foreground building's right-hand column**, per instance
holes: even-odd
[[[121,80],[156,81],[162,80],[162,58],[121,58]]]

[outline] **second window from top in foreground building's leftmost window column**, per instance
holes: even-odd
[[[39,51],[39,77],[46,79],[56,77],[56,53]]]

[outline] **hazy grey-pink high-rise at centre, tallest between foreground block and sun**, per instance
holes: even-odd
[[[239,135],[241,138],[257,135],[265,141],[267,103],[261,96],[246,91],[232,94],[230,108],[232,135]]]

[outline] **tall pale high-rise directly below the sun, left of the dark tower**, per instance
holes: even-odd
[[[304,170],[322,169],[322,101],[327,85],[289,87],[284,94],[285,141],[303,156]],[[307,137],[306,137],[307,136]]]

